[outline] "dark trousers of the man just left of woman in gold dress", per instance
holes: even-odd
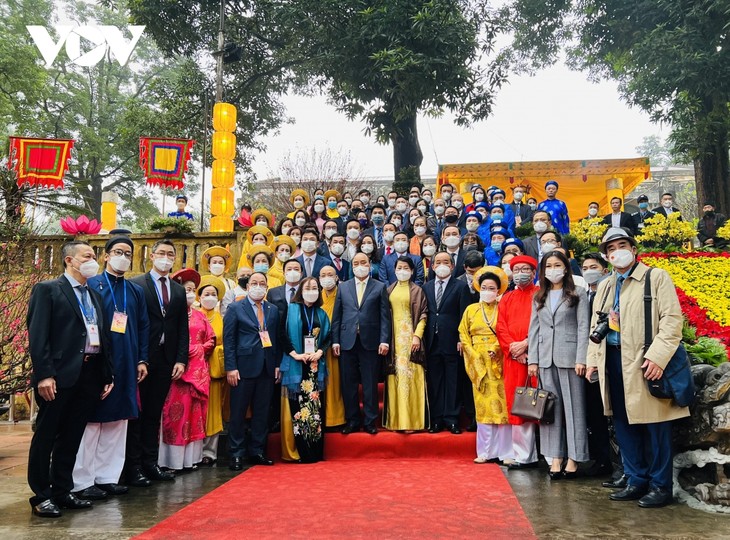
[[[362,382],[362,405],[365,425],[375,426],[378,420],[378,376],[382,357],[378,351],[367,351],[360,343],[360,336],[349,351],[341,351],[340,380],[345,419],[352,426],[360,425],[360,398],[358,386]]]

